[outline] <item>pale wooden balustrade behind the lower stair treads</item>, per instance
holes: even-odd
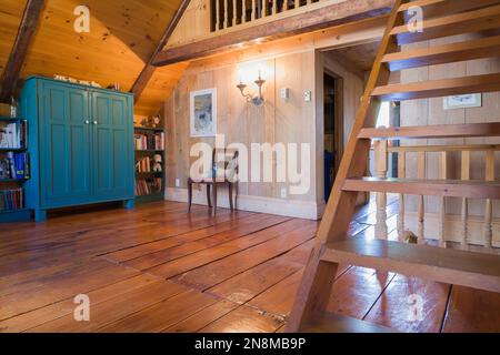
[[[374,142],[374,165],[377,178],[387,178],[388,175],[388,160],[390,154],[398,155],[398,179],[407,178],[407,161],[409,154],[417,154],[417,175],[418,179],[427,179],[428,168],[427,160],[430,154],[438,154],[439,156],[439,179],[447,180],[450,155],[459,154],[460,156],[460,176],[462,181],[471,180],[471,153],[479,152],[484,156],[484,181],[496,181],[494,174],[494,154],[500,151],[500,145],[497,144],[478,144],[478,145],[411,145],[411,146],[389,146],[387,140]],[[476,169],[476,168],[474,168]],[[424,193],[424,191],[422,191]],[[462,248],[470,246],[482,246],[494,253],[499,253],[499,248],[493,247],[493,211],[492,200],[484,200],[484,214],[479,220],[469,215],[469,199],[462,197],[461,214],[458,220],[447,222],[446,197],[439,197],[438,205],[438,225],[432,230],[432,235],[426,235],[426,204],[424,196],[418,196],[417,204],[417,231],[416,235],[419,243],[426,240],[437,240],[442,247],[447,247],[447,239],[449,232],[459,234],[458,242]],[[387,237],[387,195],[384,193],[377,193],[377,222],[376,222],[376,237]],[[399,237],[407,233],[406,229],[406,195],[399,195],[399,211],[397,221],[397,231]],[[479,224],[472,231],[471,223]],[[453,225],[454,224],[454,225]],[[453,231],[447,231],[453,226]],[[477,234],[472,241],[471,235]]]

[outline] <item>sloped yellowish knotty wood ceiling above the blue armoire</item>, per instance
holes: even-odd
[[[47,0],[34,39],[21,71],[96,81],[102,87],[119,83],[129,91],[161,40],[181,0]],[[73,29],[74,8],[90,9],[90,32]],[[0,65],[11,52],[24,0],[2,0],[0,9]],[[157,70],[136,105],[136,114],[159,111],[161,102],[183,72],[186,64]]]

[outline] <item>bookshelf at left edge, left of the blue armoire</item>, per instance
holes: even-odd
[[[0,116],[0,223],[31,219],[24,193],[29,180],[27,138],[26,120]]]

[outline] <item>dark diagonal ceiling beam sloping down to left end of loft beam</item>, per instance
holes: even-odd
[[[190,0],[182,0],[179,9],[176,11],[176,13],[172,17],[172,20],[170,21],[169,26],[167,27],[167,30],[164,31],[160,42],[157,45],[157,49],[152,53],[151,58],[149,59],[148,63],[146,64],[144,69],[142,69],[141,73],[137,78],[136,82],[132,85],[132,89],[130,92],[133,93],[133,101],[137,102],[142,93],[144,91],[146,87],[148,85],[149,80],[152,78],[156,67],[152,64],[154,58],[157,54],[167,45],[167,42],[169,41],[170,37],[173,33],[173,30],[176,29],[177,24],[179,23],[180,19],[186,12],[186,9],[189,6]]]

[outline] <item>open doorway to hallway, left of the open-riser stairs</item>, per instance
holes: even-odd
[[[321,144],[321,161],[318,159],[317,165],[321,179],[321,182],[318,181],[321,186],[319,201],[328,201],[331,194],[379,45],[379,41],[372,41],[329,49],[318,55],[317,90],[321,94],[317,108],[318,126],[321,126],[317,131]],[[358,204],[367,201],[368,194],[360,194]]]

